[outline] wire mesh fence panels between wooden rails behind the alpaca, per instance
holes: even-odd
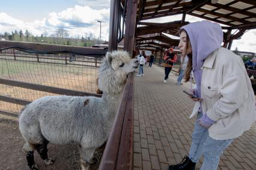
[[[62,89],[96,93],[102,57],[75,53],[36,53],[5,48],[0,50],[0,78]],[[0,96],[34,101],[55,93],[0,84]],[[18,113],[22,105],[0,101],[0,110]]]

